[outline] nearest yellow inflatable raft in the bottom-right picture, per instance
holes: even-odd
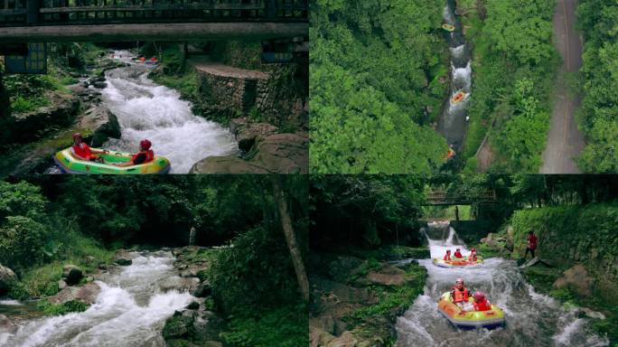
[[[470,303],[474,301],[472,296]],[[500,307],[492,304],[489,311],[463,311],[451,301],[451,294],[446,292],[438,301],[438,311],[448,319],[451,324],[462,329],[486,328],[495,329],[504,324],[504,312]]]

